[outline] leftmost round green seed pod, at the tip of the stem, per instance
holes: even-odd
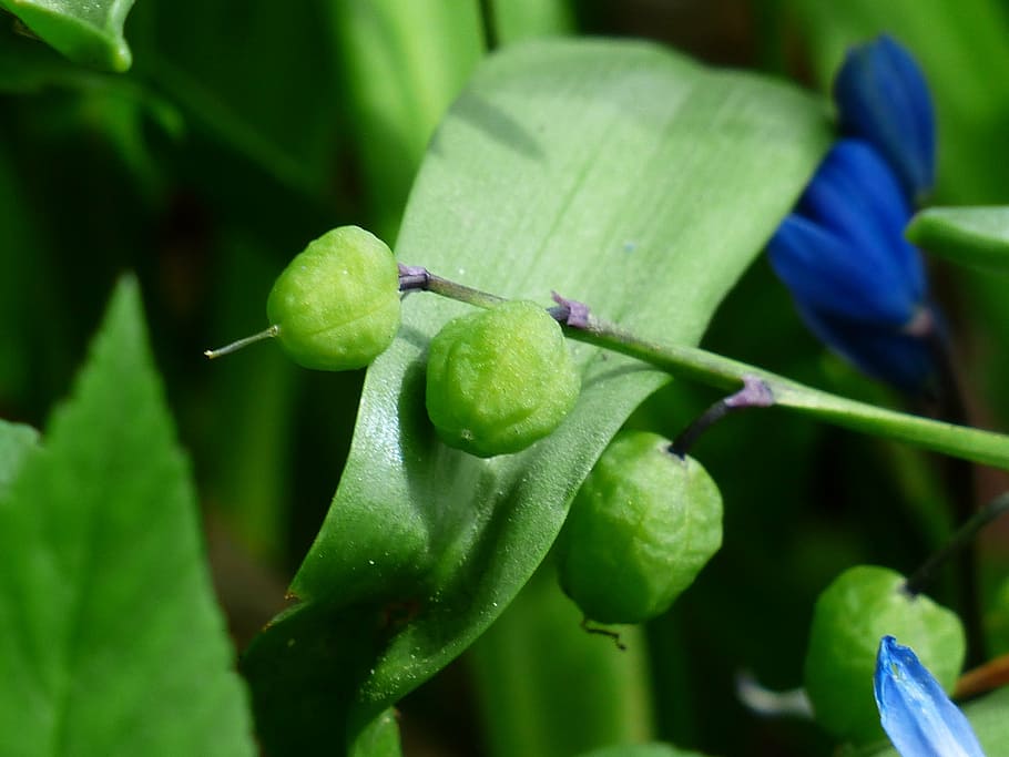
[[[309,243],[277,277],[266,316],[305,368],[363,368],[399,329],[399,267],[379,238],[357,226]]]

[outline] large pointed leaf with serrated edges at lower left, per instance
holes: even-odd
[[[0,499],[0,753],[255,753],[131,279]]]

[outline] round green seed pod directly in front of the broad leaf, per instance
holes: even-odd
[[[549,434],[580,389],[561,327],[534,303],[455,318],[431,340],[428,416],[446,444],[481,458]]]

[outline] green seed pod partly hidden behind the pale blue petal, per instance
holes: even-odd
[[[873,696],[876,651],[884,635],[915,649],[947,689],[964,664],[960,618],[927,596],[910,596],[899,573],[859,565],[816,601],[805,685],[816,719],[835,736],[864,744],[885,738]]]

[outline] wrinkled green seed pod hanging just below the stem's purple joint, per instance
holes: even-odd
[[[561,587],[585,617],[640,623],[669,610],[722,545],[722,497],[656,433],[620,432],[571,504]]]

